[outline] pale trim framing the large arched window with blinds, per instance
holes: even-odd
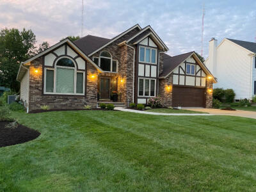
[[[58,60],[62,59],[62,58],[68,58],[68,57],[61,57]],[[85,89],[84,89],[84,81],[85,81],[85,72],[81,71],[81,70],[77,70],[76,68],[76,63],[74,60],[72,60],[71,58],[68,58],[69,60],[73,61],[75,67],[63,67],[63,66],[58,66],[57,67],[57,62],[58,60],[54,63],[54,68],[44,68],[44,94],[47,95],[84,95]],[[58,93],[56,92],[56,71],[57,68],[70,68],[70,69],[74,69],[74,93]],[[46,92],[46,70],[53,70],[54,71],[54,75],[53,75],[53,92]],[[83,93],[76,93],[76,79],[77,79],[77,72],[79,73],[83,73]]]

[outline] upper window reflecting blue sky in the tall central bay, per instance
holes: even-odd
[[[156,49],[140,46],[140,62],[156,64]]]

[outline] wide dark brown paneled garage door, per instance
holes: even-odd
[[[173,86],[172,106],[205,108],[205,89]]]

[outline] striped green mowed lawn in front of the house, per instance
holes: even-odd
[[[42,134],[0,148],[0,191],[256,191],[256,120],[13,113]]]

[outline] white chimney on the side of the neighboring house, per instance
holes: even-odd
[[[217,40],[212,37],[209,42],[209,62],[207,67],[211,71],[212,75],[216,77],[217,68]]]

